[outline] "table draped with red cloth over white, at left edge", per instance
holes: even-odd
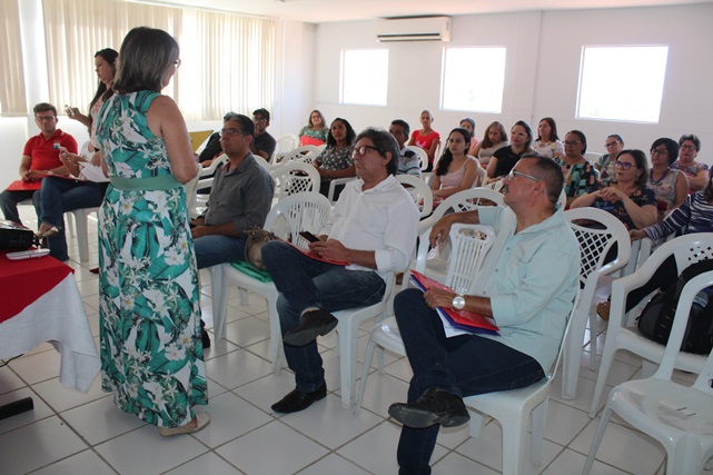
[[[100,362],[72,271],[49,256],[10,260],[0,251],[0,358],[49,342],[61,354],[60,383],[87,392]]]

